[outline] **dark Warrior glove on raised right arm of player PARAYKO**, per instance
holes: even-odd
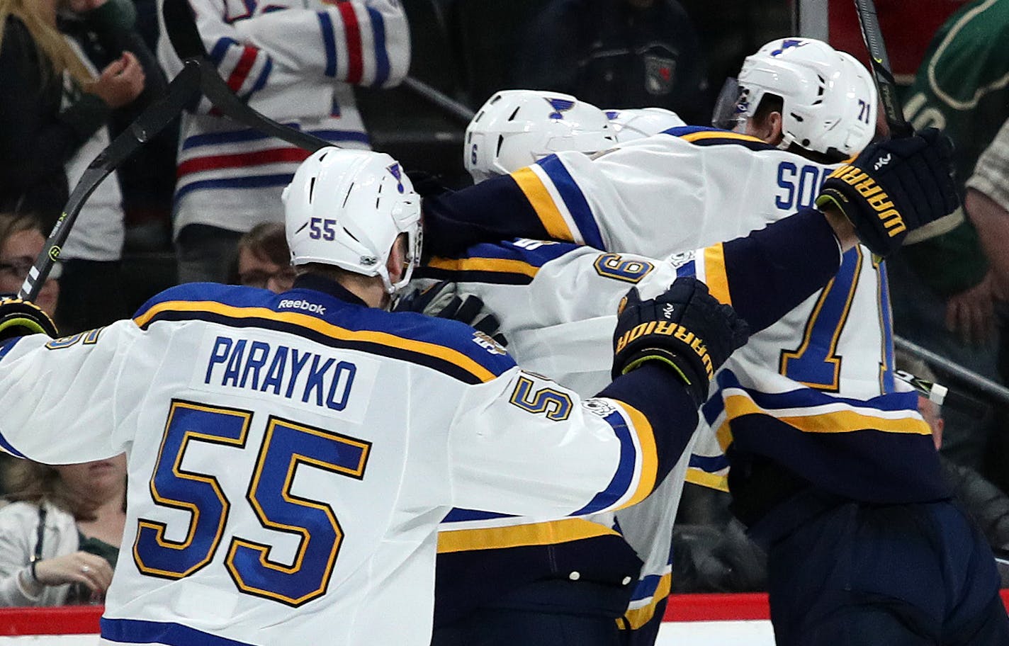
[[[613,332],[612,378],[645,361],[661,361],[683,380],[700,406],[714,371],[749,337],[746,321],[697,279],[678,278],[664,294],[648,301],[641,300],[638,288],[631,288],[621,302]]]

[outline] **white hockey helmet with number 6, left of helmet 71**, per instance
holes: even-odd
[[[466,127],[463,164],[480,183],[553,152],[592,153],[615,143],[606,115],[590,103],[560,92],[504,90]]]

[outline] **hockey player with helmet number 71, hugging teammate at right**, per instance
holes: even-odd
[[[838,168],[872,139],[877,99],[862,66],[818,41],[768,43],[748,58],[740,85],[749,134],[681,128],[593,160],[547,157],[431,200],[432,241],[450,252],[524,235],[661,256],[811,206],[830,176],[825,199],[855,221],[861,205],[882,234],[755,334],[704,407],[728,449],[735,511],[769,548],[778,643],[1007,643],[990,551],[948,503],[914,394],[893,381],[876,255],[906,234],[887,196],[941,193],[893,159],[921,154],[938,169],[948,164],[941,141],[926,131],[880,144],[868,166]],[[744,310],[764,297],[731,294]]]

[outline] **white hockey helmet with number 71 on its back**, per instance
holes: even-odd
[[[765,94],[782,98],[779,147],[850,156],[876,134],[877,92],[854,57],[812,38],[779,38],[747,57],[737,112],[754,116]]]

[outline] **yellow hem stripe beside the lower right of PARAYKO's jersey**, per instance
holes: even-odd
[[[438,532],[438,553],[553,545],[596,536],[620,536],[620,534],[608,527],[581,518],[511,527],[441,531]]]

